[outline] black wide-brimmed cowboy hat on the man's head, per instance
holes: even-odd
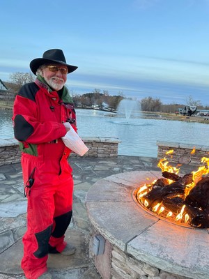
[[[47,50],[42,54],[42,58],[33,59],[30,63],[31,71],[36,75],[36,70],[45,63],[59,63],[68,67],[68,74],[77,69],[77,66],[68,65],[62,50]]]

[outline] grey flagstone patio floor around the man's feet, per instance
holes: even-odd
[[[69,257],[49,258],[54,279],[100,279],[92,255],[91,224],[86,213],[86,194],[93,184],[107,176],[139,170],[157,170],[156,158],[70,158],[75,180],[73,220],[66,234],[77,246]],[[99,195],[100,193],[98,193]],[[103,213],[101,213],[103,215]],[[26,229],[26,199],[20,164],[0,167],[0,278],[23,279],[20,269],[22,236]],[[60,255],[59,255],[60,256]]]

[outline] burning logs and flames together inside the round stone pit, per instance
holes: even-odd
[[[144,210],[177,225],[209,227],[209,158],[196,172],[179,176],[179,168],[171,167],[167,158],[160,160],[162,178],[145,183],[133,197]]]

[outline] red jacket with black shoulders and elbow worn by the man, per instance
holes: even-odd
[[[14,133],[20,149],[43,159],[61,158],[66,133],[63,122],[69,121],[76,130],[76,116],[68,90],[61,99],[56,91],[39,80],[25,84],[14,103]]]

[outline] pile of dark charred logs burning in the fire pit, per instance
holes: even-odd
[[[161,211],[162,217],[167,216],[169,211],[174,213],[170,215],[170,220],[174,220],[184,207],[183,220],[176,222],[185,222],[185,214],[189,219],[187,224],[191,227],[207,228],[209,227],[209,176],[202,178],[196,186],[190,190],[189,195],[185,197],[185,189],[193,182],[192,174],[178,176],[171,172],[162,172],[163,178],[157,179],[149,193],[141,197],[141,202],[144,199],[148,202],[147,208],[150,211],[160,209],[158,204],[164,206],[165,211]],[[169,180],[173,183],[169,184]],[[154,206],[157,207],[154,209]],[[163,213],[162,213],[163,212]]]

